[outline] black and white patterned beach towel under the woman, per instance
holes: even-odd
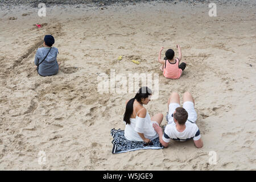
[[[159,142],[159,137],[151,140],[151,145],[146,145],[145,142],[133,142],[125,138],[124,130],[111,130],[111,135],[113,137],[113,154],[119,154],[123,152],[141,150],[141,149],[161,149],[162,144]]]

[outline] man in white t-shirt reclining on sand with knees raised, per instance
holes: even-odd
[[[168,125],[164,134],[159,125],[153,124],[164,147],[168,146],[171,139],[184,142],[192,138],[197,148],[203,147],[200,130],[196,125],[197,114],[194,106],[195,101],[189,92],[184,93],[183,107],[180,107],[179,94],[171,94],[168,100]]]

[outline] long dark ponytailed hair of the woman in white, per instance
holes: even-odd
[[[137,100],[138,102],[141,103],[142,98],[147,98],[148,96],[151,96],[151,95],[152,95],[152,91],[150,90],[150,88],[147,88],[147,86],[142,86],[142,88],[139,89],[135,97],[127,102],[125,114],[123,115],[123,121],[125,121],[126,124],[130,124],[130,117],[131,117],[131,114],[133,114],[134,100]]]

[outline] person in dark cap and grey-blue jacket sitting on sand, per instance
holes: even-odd
[[[52,76],[59,72],[57,63],[58,49],[52,47],[55,40],[52,35],[44,36],[44,47],[39,48],[35,55],[36,70],[40,76]]]

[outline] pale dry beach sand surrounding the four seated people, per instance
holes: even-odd
[[[51,6],[42,18],[32,7],[1,7],[0,169],[256,169],[255,3],[217,4],[217,17],[209,17],[207,3],[76,7]],[[62,63],[52,77],[38,76],[34,65],[46,34],[55,36]],[[158,51],[177,52],[176,44],[187,68],[168,80]],[[110,130],[125,128],[125,101],[134,94],[97,92],[97,74],[111,68],[159,74],[159,99],[146,105],[151,116],[166,114],[171,92],[190,91],[204,147],[171,142],[164,150],[113,155]],[[46,164],[38,163],[39,151]],[[216,165],[208,163],[209,151]]]

